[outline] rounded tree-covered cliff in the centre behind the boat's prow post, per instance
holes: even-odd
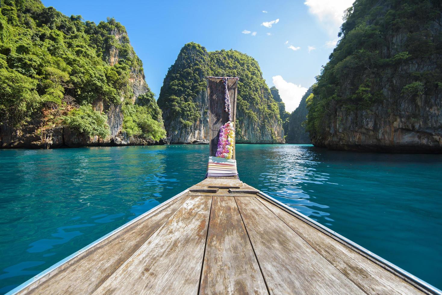
[[[181,49],[161,87],[158,105],[171,143],[209,143],[206,76],[239,76],[237,143],[283,143],[278,105],[258,63],[234,50],[207,52],[196,43]]]

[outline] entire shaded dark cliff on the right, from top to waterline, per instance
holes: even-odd
[[[441,3],[357,1],[341,34],[308,102],[312,143],[442,152]]]

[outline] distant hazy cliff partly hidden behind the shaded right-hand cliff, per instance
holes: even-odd
[[[302,96],[299,106],[289,117],[288,132],[286,142],[288,144],[310,144],[309,133],[305,131],[303,123],[307,120],[307,98],[312,93],[312,87]]]

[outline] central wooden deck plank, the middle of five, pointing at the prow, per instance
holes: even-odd
[[[232,197],[213,197],[200,293],[268,294]]]

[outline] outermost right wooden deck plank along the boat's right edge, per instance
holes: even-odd
[[[422,294],[368,258],[262,198],[259,201],[368,294]]]

